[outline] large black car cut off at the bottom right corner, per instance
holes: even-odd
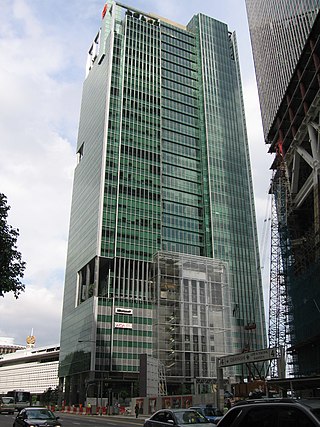
[[[319,427],[320,400],[258,399],[236,403],[218,427]]]

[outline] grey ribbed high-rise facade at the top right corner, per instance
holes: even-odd
[[[320,8],[319,0],[246,0],[265,137]]]

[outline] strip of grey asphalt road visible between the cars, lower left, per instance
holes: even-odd
[[[86,415],[73,415],[56,412],[60,417],[62,427],[135,427],[142,426],[144,420],[142,418],[135,419],[133,417],[125,416],[86,416]],[[0,415],[1,427],[12,427],[15,416],[2,414]]]

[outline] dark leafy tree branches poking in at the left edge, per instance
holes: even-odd
[[[0,296],[13,292],[15,298],[18,298],[25,288],[20,279],[24,275],[26,263],[17,250],[19,230],[7,223],[9,209],[6,196],[0,193]]]

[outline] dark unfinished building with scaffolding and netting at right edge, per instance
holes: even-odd
[[[320,15],[268,134],[276,154],[271,192],[278,244],[272,244],[281,255],[271,265],[277,272],[271,285],[278,291],[270,300],[270,326],[275,317],[283,319],[276,332],[280,343],[288,342],[281,334],[289,334],[296,375],[320,374],[319,29]]]

